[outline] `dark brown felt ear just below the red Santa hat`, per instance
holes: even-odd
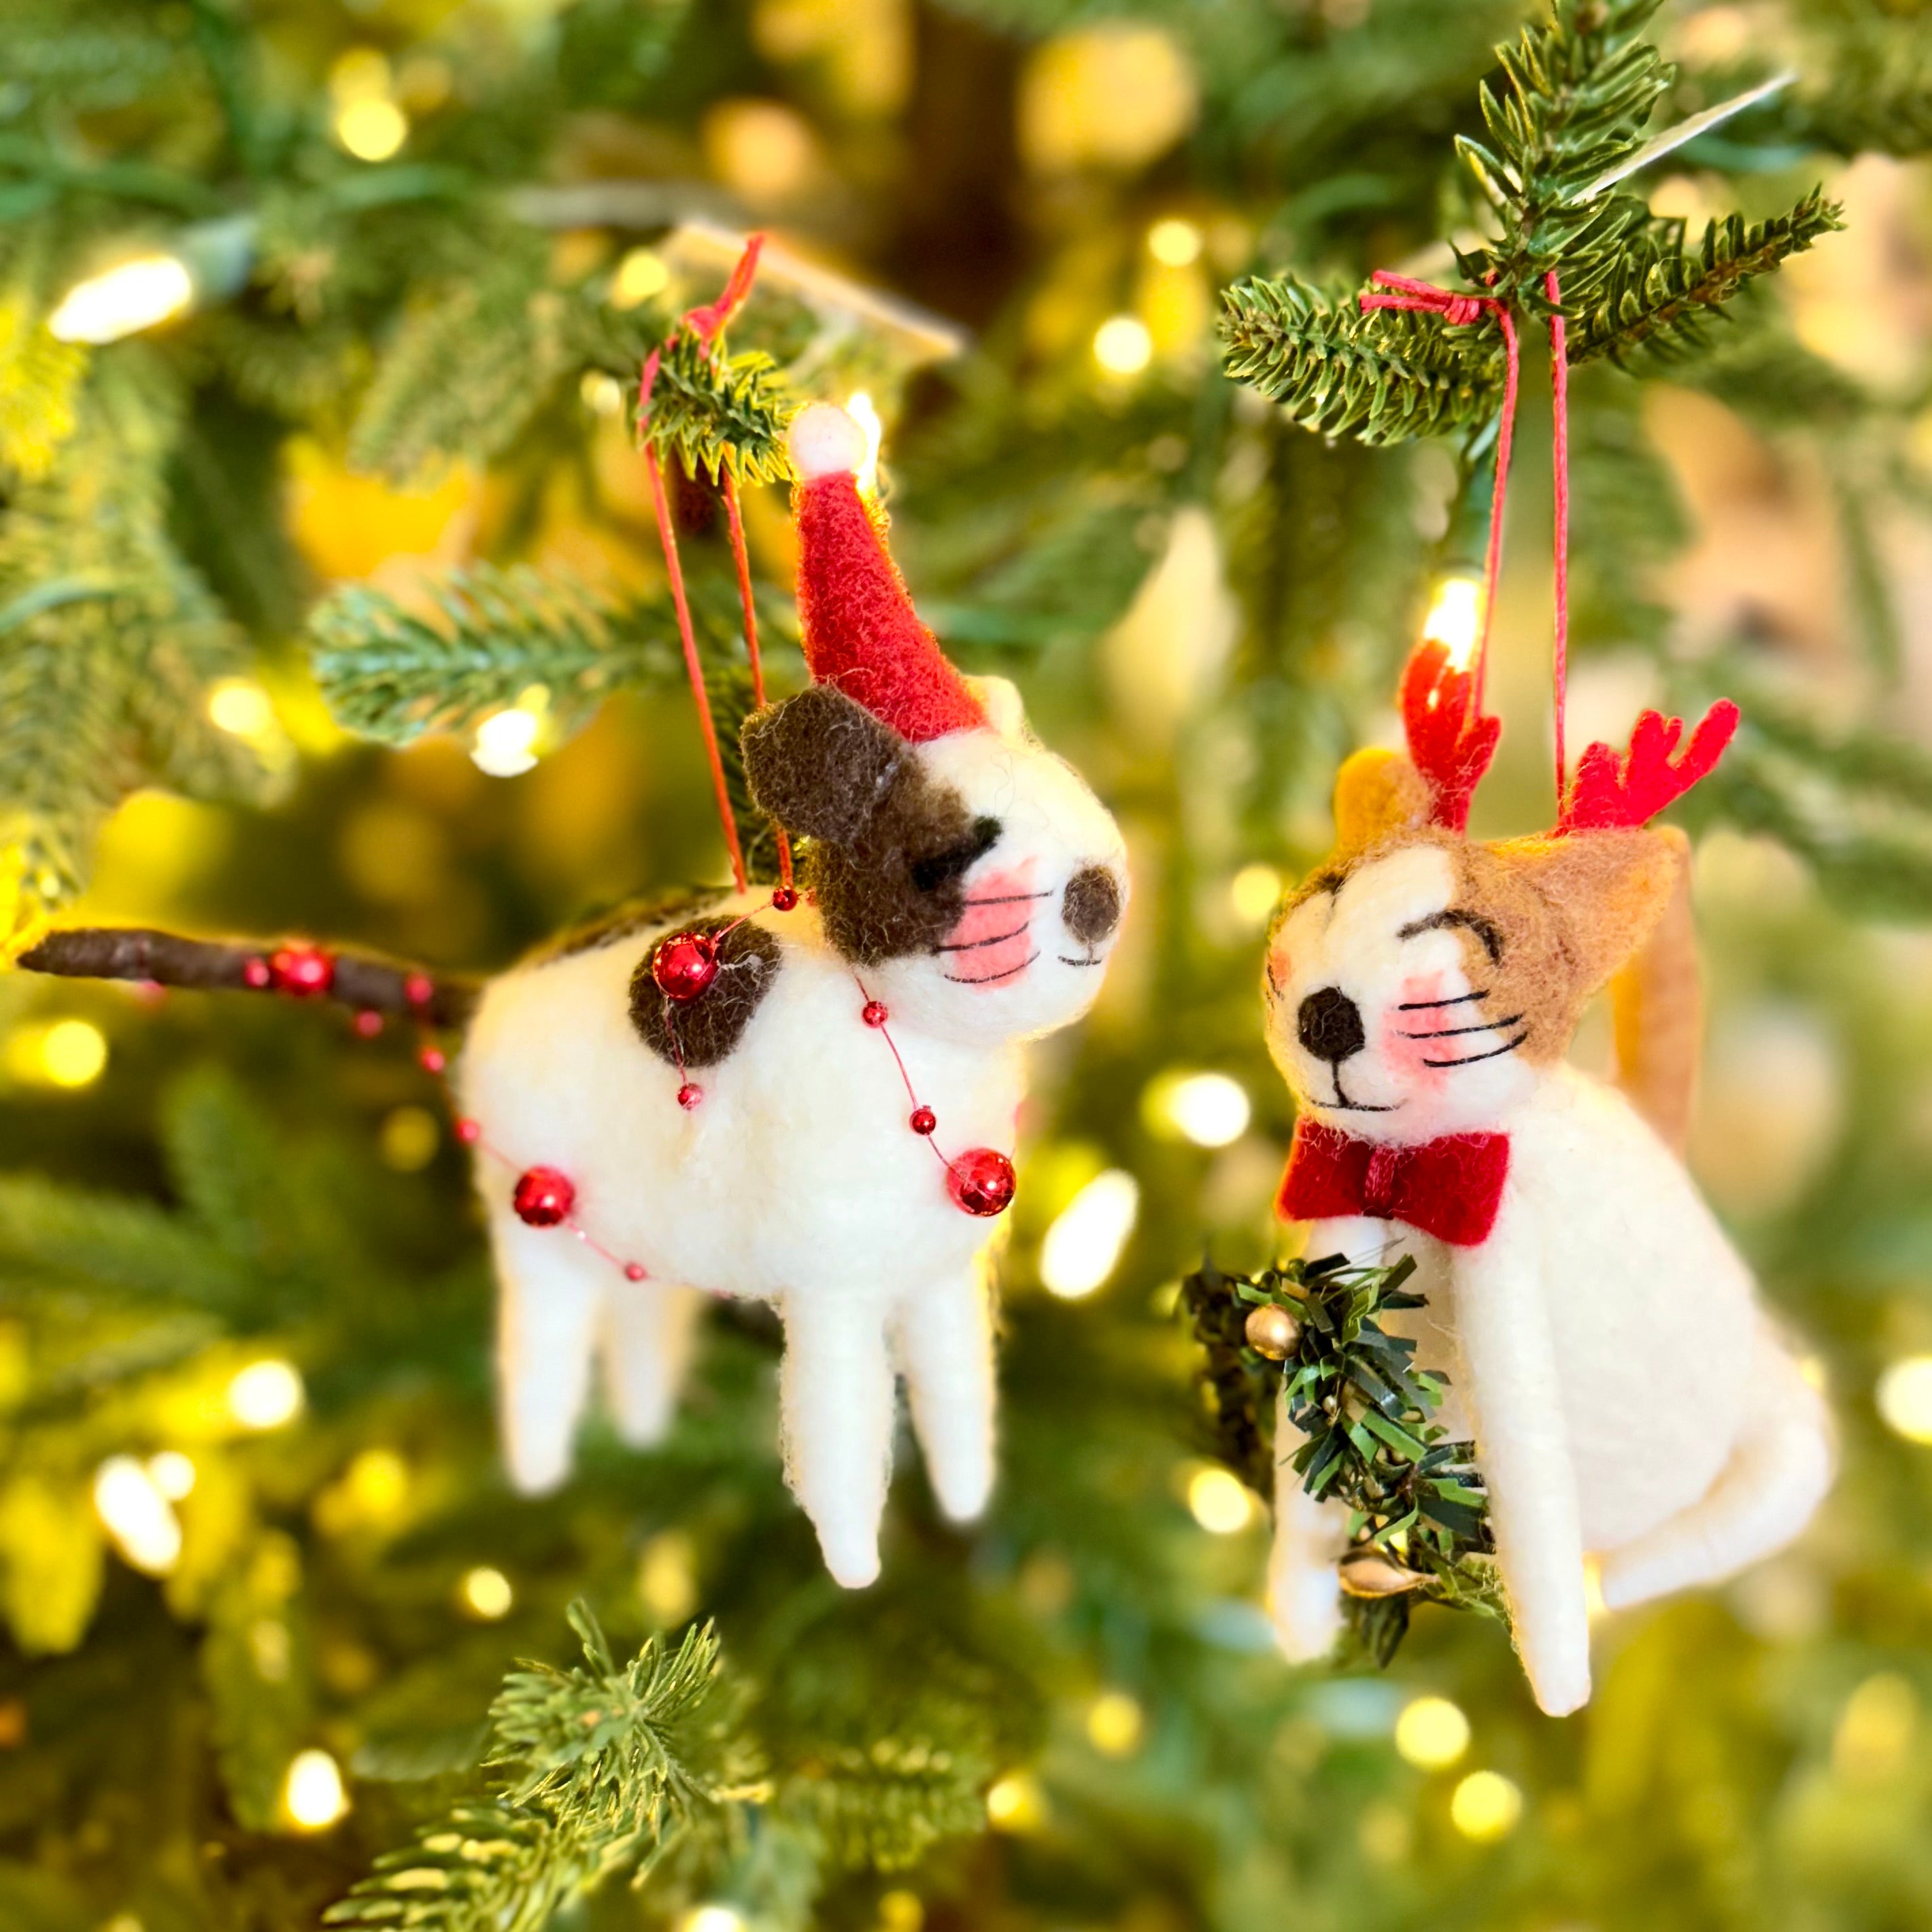
[[[744,775],[788,833],[850,846],[866,835],[912,746],[833,684],[744,721]]]

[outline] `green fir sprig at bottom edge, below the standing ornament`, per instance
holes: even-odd
[[[699,1812],[744,1795],[721,1776],[703,1718],[721,1677],[717,1633],[611,1656],[580,1600],[583,1663],[527,1663],[491,1706],[489,1797],[464,1801],[386,1853],[325,1924],[543,1932],[605,1878],[647,1870]]]

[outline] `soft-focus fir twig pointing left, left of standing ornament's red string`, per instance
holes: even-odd
[[[477,564],[433,589],[421,616],[365,585],[309,616],[311,665],[330,713],[383,744],[468,732],[543,686],[566,728],[612,690],[684,674],[668,597],[607,599],[527,566]]]

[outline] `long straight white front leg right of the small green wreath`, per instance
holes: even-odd
[[[1495,1565],[1536,1704],[1563,1718],[1590,1700],[1582,1520],[1542,1258],[1519,1213],[1505,1196],[1490,1238],[1451,1250],[1451,1265]]]

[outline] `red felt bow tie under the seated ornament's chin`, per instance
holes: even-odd
[[[1474,1248],[1490,1238],[1509,1175],[1507,1134],[1443,1134],[1420,1148],[1356,1140],[1302,1115],[1275,1211],[1283,1221],[1370,1215]]]

